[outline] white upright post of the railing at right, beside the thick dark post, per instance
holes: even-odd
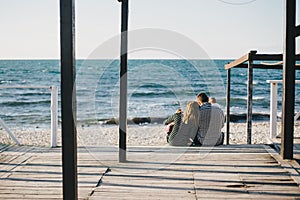
[[[271,100],[270,100],[270,138],[275,138],[277,134],[277,88],[276,82],[270,82]]]

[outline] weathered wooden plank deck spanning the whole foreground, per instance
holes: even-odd
[[[79,147],[80,199],[296,199],[300,167],[264,145]],[[62,199],[61,148],[0,145],[0,199]]]

